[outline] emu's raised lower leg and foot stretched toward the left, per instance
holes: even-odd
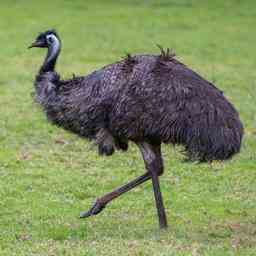
[[[143,175],[141,175],[140,177],[125,184],[124,186],[121,186],[121,187],[117,188],[116,190],[98,198],[89,211],[84,211],[84,212],[80,213],[80,218],[86,218],[91,215],[96,215],[96,214],[100,213],[105,208],[107,203],[109,203],[113,199],[121,196],[123,193],[135,188],[136,186],[144,183],[145,181],[147,181],[149,179],[151,179],[151,175],[150,175],[150,173],[146,172]]]

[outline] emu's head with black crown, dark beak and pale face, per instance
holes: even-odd
[[[60,48],[60,38],[55,30],[47,30],[40,33],[35,42],[32,43],[28,48],[38,47],[38,48]]]

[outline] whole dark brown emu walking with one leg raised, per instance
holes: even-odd
[[[159,176],[161,144],[181,144],[192,161],[225,160],[238,153],[243,126],[233,105],[169,49],[159,55],[127,55],[87,76],[63,81],[55,72],[61,50],[56,31],[40,33],[29,47],[47,48],[35,78],[35,100],[53,124],[95,139],[99,154],[139,147],[146,172],[99,197],[85,218],[100,213],[113,199],[152,180],[160,228],[167,227]]]

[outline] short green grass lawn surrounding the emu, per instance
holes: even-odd
[[[256,255],[256,2],[239,0],[19,0],[0,2],[0,255]],[[92,142],[54,127],[33,103],[45,50],[27,46],[55,28],[64,78],[127,52],[175,49],[224,91],[245,126],[224,163],[183,161],[163,146],[169,229],[159,231],[151,183],[80,220],[99,195],[141,175],[142,158],[99,157]]]

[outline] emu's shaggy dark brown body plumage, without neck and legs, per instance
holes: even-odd
[[[60,87],[61,88],[61,87]],[[224,159],[238,152],[243,133],[234,107],[213,84],[161,56],[128,56],[62,85],[76,128],[93,137],[183,144],[190,158]],[[228,144],[231,142],[231,145]]]

